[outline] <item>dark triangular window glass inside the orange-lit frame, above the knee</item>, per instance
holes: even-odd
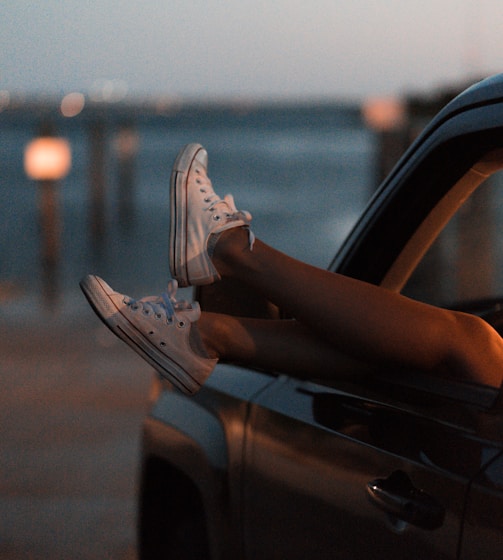
[[[503,307],[503,172],[487,179],[430,247],[402,293],[484,314]]]

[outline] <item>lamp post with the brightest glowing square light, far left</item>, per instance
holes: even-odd
[[[56,187],[70,171],[71,162],[70,144],[64,138],[41,136],[24,151],[25,172],[39,186],[41,257],[46,273],[53,273],[59,260],[61,225]]]

